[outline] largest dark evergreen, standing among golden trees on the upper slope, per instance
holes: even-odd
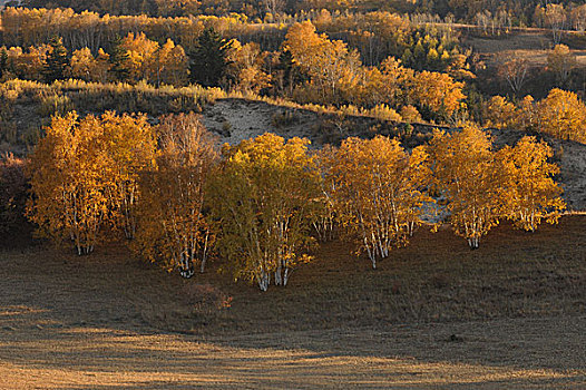
[[[232,42],[213,28],[205,29],[189,55],[192,80],[204,87],[217,87],[226,74]]]

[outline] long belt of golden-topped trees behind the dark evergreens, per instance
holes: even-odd
[[[87,11],[75,13],[71,9],[26,8],[8,8],[0,19],[0,37],[6,46],[40,46],[59,36],[68,50],[87,47],[94,55],[100,47],[109,49],[116,37],[125,37],[129,32],[144,32],[160,46],[172,39],[189,52],[195,49],[199,35],[206,28],[213,28],[228,40],[254,41],[263,50],[277,50],[286,29],[304,20],[312,20],[320,32],[341,39],[357,49],[369,66],[379,65],[384,58],[393,56],[411,60],[422,67],[419,70],[447,70],[458,56],[466,55],[459,48],[458,33],[452,28],[419,25],[411,22],[408,17],[388,11],[342,13],[322,10],[315,14],[289,18],[279,25],[253,23],[237,16],[100,17]]]

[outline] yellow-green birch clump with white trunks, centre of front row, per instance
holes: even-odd
[[[319,172],[307,154],[309,140],[265,134],[225,146],[211,192],[219,220],[221,253],[236,279],[266,291],[286,285],[310,242],[314,207],[322,202]]]

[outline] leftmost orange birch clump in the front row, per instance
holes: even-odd
[[[41,235],[56,243],[72,241],[79,255],[94,251],[108,214],[101,135],[94,116],[81,120],[76,113],[56,116],[28,169],[33,194],[30,220],[39,225]]]

